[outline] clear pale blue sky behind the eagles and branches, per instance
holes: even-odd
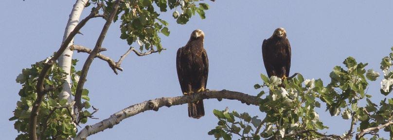
[[[326,85],[335,65],[348,56],[357,62],[369,62],[367,68],[378,72],[379,62],[393,46],[393,1],[365,0],[216,0],[211,2],[206,19],[194,16],[187,25],[176,24],[172,12],[161,14],[169,23],[169,37],[161,35],[167,48],[161,54],[137,57],[130,54],[122,63],[124,72],[115,75],[104,62],[92,63],[85,88],[90,91],[90,104],[100,110],[94,115],[99,120],[130,105],[158,97],[181,95],[176,73],[176,51],[184,46],[195,29],[205,32],[205,49],[210,70],[207,88],[233,90],[256,95],[255,83],[266,73],[261,55],[263,39],[278,27],[284,27],[292,47],[290,74],[300,72],[304,78],[322,78]],[[2,140],[13,140],[18,135],[14,122],[8,121],[19,100],[21,85],[15,78],[22,68],[50,56],[61,44],[64,29],[74,0],[4,0],[0,4],[0,132]],[[85,17],[90,9],[84,11]],[[104,24],[103,19],[92,19],[75,37],[75,44],[92,48]],[[118,60],[128,49],[119,38],[119,22],[112,24],[103,47],[105,55]],[[136,47],[136,45],[134,45]],[[74,53],[81,69],[86,53]],[[379,93],[381,78],[371,82],[368,93],[374,101],[384,98]],[[392,95],[390,95],[392,97]],[[205,100],[206,115],[201,119],[187,116],[187,105],[146,111],[127,118],[112,129],[89,137],[89,140],[212,140],[207,132],[216,126],[213,109],[235,109],[263,116],[256,106],[239,101]],[[343,134],[349,120],[330,117],[318,109],[329,132]],[[79,128],[82,129],[82,128]],[[326,130],[322,131],[325,132]],[[381,136],[388,136],[382,133]]]

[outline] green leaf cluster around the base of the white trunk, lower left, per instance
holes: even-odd
[[[16,121],[14,128],[20,133],[16,140],[27,140],[29,132],[30,114],[37,98],[36,82],[39,73],[41,72],[44,62],[46,60],[32,64],[30,68],[24,68],[22,73],[18,75],[16,81],[21,84],[22,88],[19,90],[20,100],[17,102],[17,107],[14,110],[14,116],[10,121]],[[71,91],[75,93],[76,84],[78,82],[80,71],[75,70],[77,60],[72,60],[71,65]],[[53,140],[56,138],[69,138],[76,135],[76,127],[73,123],[75,120],[71,116],[72,105],[68,103],[67,99],[58,99],[58,95],[62,90],[62,83],[67,73],[64,72],[58,63],[55,62],[49,70],[47,77],[44,80],[44,87],[50,89],[44,95],[41,106],[39,107],[37,117],[37,133],[43,132],[40,140]],[[89,91],[84,89],[83,98],[85,101],[85,108],[89,109]],[[89,115],[89,111],[85,110]],[[81,123],[86,123],[81,121]],[[37,134],[38,136],[40,134]]]

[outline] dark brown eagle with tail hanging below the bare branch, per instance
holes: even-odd
[[[191,33],[190,40],[178,49],[176,68],[181,92],[184,95],[203,92],[206,89],[209,73],[209,60],[203,48],[205,34],[201,30]],[[188,116],[199,119],[205,115],[203,100],[188,103]]]

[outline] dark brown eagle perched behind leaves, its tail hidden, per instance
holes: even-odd
[[[284,28],[277,28],[262,44],[262,57],[268,77],[287,78],[291,67],[291,46]]]

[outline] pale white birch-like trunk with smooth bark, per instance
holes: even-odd
[[[64,31],[63,42],[66,40],[68,35],[70,35],[71,31],[74,30],[75,26],[79,23],[79,18],[83,9],[85,8],[86,3],[89,0],[76,0],[70,18],[68,19],[68,23],[66,26],[66,30]],[[63,43],[62,42],[62,43]],[[70,49],[70,46],[73,44],[73,40],[70,42],[66,50],[61,54],[61,56],[57,59],[59,62],[59,66],[68,74],[71,72],[71,60],[73,51]],[[58,98],[68,99],[68,103],[71,103],[71,77],[67,75],[65,82],[63,82],[63,89],[61,93],[59,93]]]

